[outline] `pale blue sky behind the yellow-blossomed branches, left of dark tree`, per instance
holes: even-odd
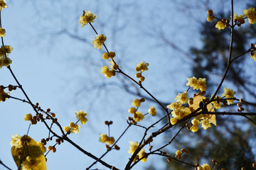
[[[80,28],[78,20],[82,10],[97,14],[93,26],[98,33],[107,36],[107,47],[117,53],[116,60],[124,72],[134,77],[135,65],[142,60],[149,62],[144,86],[166,103],[173,102],[177,92],[186,90],[191,60],[168,45],[164,38],[188,52],[189,47],[201,45],[196,22],[207,17],[207,7],[197,1],[191,1],[191,8],[181,1],[167,0],[22,0],[7,1],[7,4],[9,8],[1,11],[1,21],[6,29],[4,43],[14,47],[9,55],[13,60],[11,69],[31,101],[40,103],[42,108],[50,108],[61,125],[75,121],[75,111],[87,111],[87,124],[82,125],[77,135],[70,135],[70,139],[97,157],[105,152],[105,145],[98,142],[99,134],[107,133],[104,121],[114,121],[111,135],[117,138],[127,126],[126,119],[130,116],[127,110],[136,96],[122,90],[122,81],[118,79],[129,82],[122,76],[106,79],[100,73],[100,67],[107,64],[101,59],[105,51],[92,47],[95,33],[90,26]],[[0,78],[4,86],[16,85],[6,67],[0,69]],[[137,90],[128,85],[132,91]],[[12,91],[11,96],[24,98],[18,90]],[[156,103],[144,103],[141,111],[146,112],[150,106]],[[25,135],[28,122],[23,121],[23,115],[34,113],[28,104],[11,99],[1,102],[0,108],[0,159],[16,169],[9,145],[11,135]],[[155,120],[146,118],[145,121]],[[143,130],[131,128],[117,144],[121,150],[110,152],[103,160],[122,169],[130,157],[129,141],[139,141],[142,134]],[[38,123],[31,126],[28,135],[40,141],[48,131]],[[160,143],[161,140],[156,141],[156,145]],[[58,146],[56,153],[50,152],[47,158],[48,169],[85,169],[93,162],[67,142]],[[155,158],[148,160],[135,169],[156,163]],[[100,164],[94,167],[106,169]]]

